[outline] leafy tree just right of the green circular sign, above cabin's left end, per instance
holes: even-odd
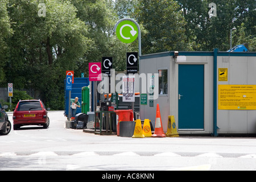
[[[185,50],[185,21],[176,1],[139,0],[134,16],[143,24],[142,52]]]

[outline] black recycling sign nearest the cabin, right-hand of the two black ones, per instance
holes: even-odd
[[[126,70],[127,74],[138,72],[138,52],[126,53]]]

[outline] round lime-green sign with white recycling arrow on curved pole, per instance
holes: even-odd
[[[132,43],[138,37],[138,28],[135,23],[124,20],[118,24],[116,34],[121,42]]]

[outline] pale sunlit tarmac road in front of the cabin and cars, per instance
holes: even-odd
[[[48,129],[0,135],[0,170],[256,170],[256,138],[95,135],[65,129],[63,111],[48,114]]]

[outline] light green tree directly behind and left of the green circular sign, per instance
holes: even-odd
[[[88,76],[88,63],[99,62],[104,56],[113,57],[116,71],[124,71],[126,51],[138,51],[138,42],[136,49],[134,44],[122,43],[114,35],[114,25],[119,20],[117,15],[119,1],[71,0],[71,2],[77,8],[77,17],[88,26],[88,37],[92,40],[88,51],[81,58],[83,63],[80,64],[77,72],[85,72],[85,76]]]

